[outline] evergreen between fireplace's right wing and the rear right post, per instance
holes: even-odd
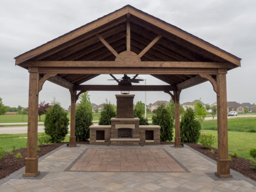
[[[157,106],[156,114],[152,116],[153,125],[159,125],[160,140],[172,141],[173,138],[173,119],[171,112],[165,107],[163,103]]]

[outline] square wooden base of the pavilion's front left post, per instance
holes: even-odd
[[[23,177],[35,177],[40,174],[38,171],[38,157],[35,158],[25,158],[25,173]]]

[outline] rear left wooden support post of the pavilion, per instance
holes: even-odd
[[[70,90],[71,114],[70,114],[70,143],[69,147],[76,147],[76,90]]]

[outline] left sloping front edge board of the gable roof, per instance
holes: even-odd
[[[49,43],[47,44],[44,44],[36,49],[33,49],[29,52],[26,52],[22,55],[19,55],[17,57],[15,57],[15,64],[20,64],[22,63],[23,61],[27,61],[43,52],[46,52],[48,51],[49,49],[52,49],[54,47],[57,47],[61,44],[64,44],[68,41],[72,41],[74,40],[75,38],[81,36],[81,35],[84,35],[85,33],[88,33],[88,32],[91,32],[101,26],[104,26],[106,23],[109,23],[113,20],[116,20],[118,19],[119,17],[122,17],[123,15],[126,15],[128,13],[128,7],[124,8],[124,9],[120,9],[116,12],[113,12],[112,14],[110,15],[107,15],[105,17],[102,17],[98,20],[95,20],[94,22],[92,23],[88,23],[87,25],[85,26],[82,26],[72,32],[69,32],[65,35],[62,35],[61,37],[59,38],[56,38],[52,41],[50,41]]]

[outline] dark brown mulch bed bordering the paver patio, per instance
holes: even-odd
[[[86,142],[76,142],[77,144],[89,144],[89,141]],[[66,144],[66,143],[54,143],[49,145],[43,145],[40,147],[40,152],[38,152],[38,157],[42,157],[45,154],[49,153],[50,151],[54,150],[55,148],[58,148],[59,146]],[[161,144],[174,144],[172,142],[161,142]],[[211,153],[211,149],[204,148],[202,145],[198,145],[195,143],[185,143],[189,147],[195,149],[196,151],[199,151],[200,153],[206,155],[207,157],[215,160],[218,156],[218,149],[212,148],[215,153]],[[20,152],[21,156],[23,158],[17,159],[15,157],[15,154]],[[25,166],[25,157],[26,157],[27,149],[17,149],[14,154],[9,154],[6,157],[3,157],[3,159],[0,160],[0,179],[7,177],[11,173],[19,170],[23,166]],[[256,181],[256,170],[253,170],[250,168],[250,161],[243,159],[241,157],[233,157],[233,155],[230,155],[232,157],[232,161],[230,162],[230,168],[240,172],[245,177],[249,177],[252,180]]]

